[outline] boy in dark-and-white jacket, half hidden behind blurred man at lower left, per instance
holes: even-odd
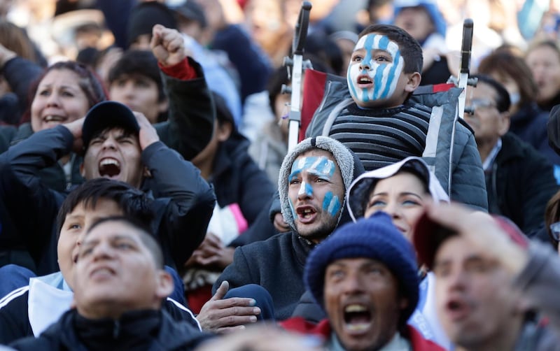
[[[39,336],[71,308],[74,275],[78,252],[87,229],[97,220],[115,215],[125,215],[151,225],[155,203],[144,192],[125,182],[106,178],[88,180],[73,189],[60,207],[57,215],[57,258],[60,271],[25,280],[24,286],[10,291],[0,299],[0,344],[8,344],[26,336]],[[156,228],[157,229],[157,228]],[[18,281],[15,273],[20,266],[0,267],[0,277],[6,273],[7,282]],[[166,269],[169,269],[166,267]],[[181,280],[177,276],[176,280]],[[177,284],[177,283],[176,283]],[[193,313],[177,303],[183,301],[182,285],[167,298],[162,308],[176,320],[186,320],[200,329]]]

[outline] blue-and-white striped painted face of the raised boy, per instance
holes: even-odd
[[[404,66],[397,43],[387,36],[367,34],[361,37],[346,74],[352,98],[358,105],[388,99],[395,92]]]

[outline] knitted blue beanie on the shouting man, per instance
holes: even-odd
[[[408,306],[400,320],[406,321],[418,303],[418,265],[412,244],[378,211],[369,218],[347,223],[318,244],[307,258],[304,282],[315,301],[324,308],[323,289],[327,266],[337,259],[364,257],[387,266],[400,284]]]

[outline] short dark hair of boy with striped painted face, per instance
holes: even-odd
[[[361,38],[370,33],[383,34],[398,44],[400,55],[405,59],[405,73],[422,73],[422,47],[405,29],[391,24],[372,24],[361,31],[358,37]]]

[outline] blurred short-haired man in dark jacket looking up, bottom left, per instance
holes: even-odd
[[[141,278],[140,278],[141,277]],[[16,350],[193,350],[209,338],[162,310],[173,280],[150,229],[128,217],[90,227],[73,272],[74,304],[38,338]]]

